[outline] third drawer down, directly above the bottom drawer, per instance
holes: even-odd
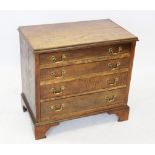
[[[90,91],[126,85],[127,76],[128,72],[106,76],[101,74],[67,82],[45,84],[40,86],[40,97],[42,100],[47,98],[56,99],[62,96],[74,96]]]

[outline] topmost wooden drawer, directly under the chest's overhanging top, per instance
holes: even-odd
[[[70,63],[70,61],[79,61],[81,59],[92,59],[96,57],[105,57],[105,59],[112,59],[120,56],[121,54],[130,51],[131,44],[116,44],[99,47],[89,47],[85,49],[68,50],[49,52],[40,55],[41,68],[63,66]],[[80,62],[79,62],[80,63]]]

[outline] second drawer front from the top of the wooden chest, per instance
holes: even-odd
[[[111,72],[128,68],[130,59],[122,58],[116,60],[105,60],[86,64],[71,65],[65,67],[56,67],[40,70],[40,80],[65,80],[68,78],[77,78],[82,75]]]

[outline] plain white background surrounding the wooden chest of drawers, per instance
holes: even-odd
[[[130,117],[100,114],[61,123],[34,140],[28,113],[20,105],[17,28],[21,25],[110,18],[139,38],[128,105]],[[0,12],[0,143],[155,143],[155,11]]]

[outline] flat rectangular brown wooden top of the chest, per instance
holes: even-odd
[[[136,36],[109,19],[23,26],[19,27],[19,31],[34,52],[98,42],[137,40]]]

